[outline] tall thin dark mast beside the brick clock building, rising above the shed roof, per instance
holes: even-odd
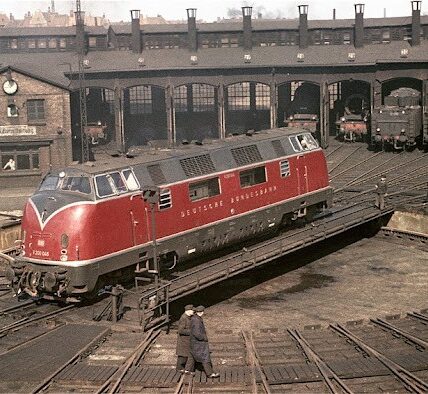
[[[86,112],[86,84],[85,84],[85,17],[80,0],[76,0],[76,45],[79,63],[79,107],[80,107],[80,143],[81,162],[89,161],[89,139],[86,136],[88,118]]]

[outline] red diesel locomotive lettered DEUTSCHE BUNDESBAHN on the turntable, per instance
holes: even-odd
[[[172,267],[331,202],[324,153],[305,130],[147,148],[49,173],[25,207],[8,277],[17,293],[74,301],[112,273],[153,270],[154,244]]]

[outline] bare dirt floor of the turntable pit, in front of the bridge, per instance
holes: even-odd
[[[428,253],[380,237],[360,239],[255,286],[245,282],[218,286],[225,298],[207,308],[208,331],[327,326],[427,308]],[[227,299],[239,286],[246,289]],[[206,302],[203,295],[187,301]]]

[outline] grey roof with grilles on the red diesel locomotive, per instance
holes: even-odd
[[[108,157],[66,171],[102,174],[131,167],[142,185],[161,185],[296,154],[288,137],[307,130],[278,128],[174,148],[140,148],[133,157]]]

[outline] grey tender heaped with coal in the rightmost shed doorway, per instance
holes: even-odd
[[[411,88],[393,90],[385,97],[384,105],[372,114],[374,149],[407,150],[416,146],[422,130],[420,99],[420,92]]]

